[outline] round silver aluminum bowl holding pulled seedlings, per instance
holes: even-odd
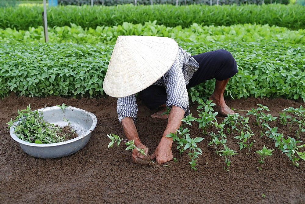
[[[38,109],[38,112],[43,108]],[[58,106],[46,107],[43,110],[43,119],[58,126],[66,126],[63,121],[63,111]],[[71,126],[78,134],[78,137],[64,142],[52,144],[35,144],[19,139],[14,133],[14,127],[19,125],[20,121],[16,121],[9,129],[11,137],[20,144],[20,147],[27,154],[38,158],[59,158],[71,155],[81,150],[89,141],[91,132],[97,124],[97,118],[94,114],[76,107],[65,108],[65,118],[69,120]]]

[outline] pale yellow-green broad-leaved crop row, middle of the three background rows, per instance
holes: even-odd
[[[237,24],[231,26],[200,26],[196,23],[188,28],[166,27],[157,25],[156,21],[142,24],[124,22],[122,25],[108,27],[98,26],[95,29],[83,29],[81,26],[71,26],[48,29],[49,42],[53,43],[98,43],[114,45],[119,35],[149,35],[174,38],[178,42],[281,42],[305,44],[305,30],[291,31],[284,27],[256,24]],[[42,26],[30,27],[23,31],[11,28],[0,29],[0,40],[6,42],[44,42]]]

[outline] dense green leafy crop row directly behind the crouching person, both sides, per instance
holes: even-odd
[[[273,42],[181,42],[191,54],[226,49],[238,63],[225,96],[284,97],[305,101],[305,46]],[[99,97],[113,45],[102,43],[6,43],[0,47],[0,97]],[[213,80],[190,90],[190,97],[209,96]]]

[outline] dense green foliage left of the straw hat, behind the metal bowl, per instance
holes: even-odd
[[[2,44],[0,97],[100,97],[113,47]]]

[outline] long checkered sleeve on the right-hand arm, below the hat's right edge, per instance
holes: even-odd
[[[173,66],[167,71],[164,77],[167,92],[166,106],[169,108],[172,106],[181,107],[185,111],[185,115],[189,115],[188,92],[178,59],[174,62]]]

